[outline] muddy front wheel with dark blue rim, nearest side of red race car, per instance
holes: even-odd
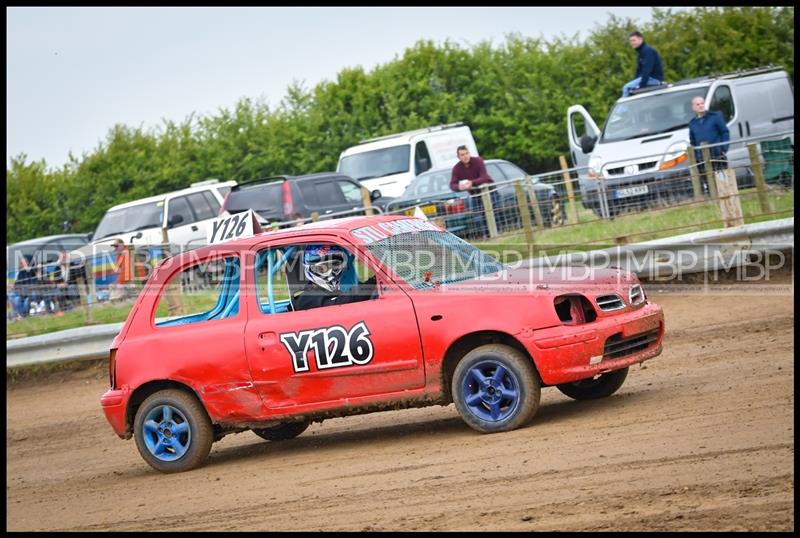
[[[481,433],[514,430],[539,409],[539,375],[520,351],[489,344],[467,353],[456,366],[453,402],[467,425]]]

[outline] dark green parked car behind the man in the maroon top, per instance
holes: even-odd
[[[510,181],[524,179],[533,182],[536,199],[545,226],[559,226],[564,223],[565,202],[563,197],[552,185],[531,178],[516,164],[502,160],[489,159],[484,161],[486,171],[496,182],[497,196],[495,197],[495,221],[498,226],[505,229],[515,229],[521,226],[519,221],[519,205],[514,184]],[[452,167],[429,170],[414,178],[406,188],[403,195],[387,205],[388,212],[404,209],[406,215],[413,215],[416,207],[428,217],[443,217],[448,231],[458,235],[471,235],[474,231],[473,215],[469,213],[469,193],[454,192],[450,190],[450,175]],[[530,204],[530,196],[526,197]],[[531,208],[531,221],[536,224],[536,213]]]

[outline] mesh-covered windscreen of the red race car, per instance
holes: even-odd
[[[450,232],[418,231],[368,244],[378,260],[417,289],[497,273],[503,265]]]

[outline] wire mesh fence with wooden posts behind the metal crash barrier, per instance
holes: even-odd
[[[440,192],[273,223],[283,229],[316,220],[388,214],[424,217],[479,246],[502,245],[518,256],[569,252],[737,226],[794,215],[794,133],[715,144],[678,155],[607,163],[601,170],[567,168],[496,181],[462,192]],[[39,280],[27,300],[7,293],[8,319],[82,309],[95,322],[98,303],[130,305],[167,255],[196,245],[128,246],[126,255],[99,252],[64,285]],[[501,256],[502,258],[502,256]],[[507,261],[507,260],[502,260]],[[189,303],[216,293],[221,263],[198,265],[178,280]],[[176,290],[177,291],[177,290]],[[195,297],[193,299],[193,297]],[[170,312],[182,308],[169,305]]]

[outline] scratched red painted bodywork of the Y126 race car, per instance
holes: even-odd
[[[635,275],[617,269],[509,269],[502,278],[479,278],[417,290],[381,265],[352,231],[407,217],[355,217],[204,247],[164,260],[148,280],[119,335],[115,386],[101,404],[114,431],[130,437],[131,396],[148,383],[170,381],[193,391],[209,417],[225,427],[272,423],[287,418],[327,417],[369,410],[446,403],[444,358],[459,339],[491,332],[527,350],[544,385],[592,377],[657,356],[664,317],[651,302],[628,305]],[[381,297],[349,305],[265,315],[252,293],[255,253],[292,242],[332,242],[357,251],[375,271]],[[243,286],[238,314],[202,323],[156,328],[154,312],[165,284],[178,271],[212,256],[240,256]],[[602,312],[582,325],[563,324],[553,306],[559,295],[590,300],[617,293],[626,307]],[[277,334],[286,330],[341,325],[359,320],[371,331],[374,358],[366,365],[294,372]],[[606,338],[658,329],[649,348],[590,364],[603,354]],[[508,341],[508,340],[507,340]],[[313,355],[313,354],[312,354]],[[313,361],[311,361],[313,362]],[[449,363],[448,363],[449,364]],[[454,364],[449,365],[450,369]],[[143,388],[144,387],[144,388]]]

